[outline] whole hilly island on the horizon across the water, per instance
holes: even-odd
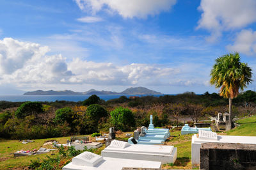
[[[143,88],[143,87],[138,87],[138,88],[128,88],[125,89],[125,91],[122,91],[120,93],[117,93],[115,91],[97,91],[95,89],[90,89],[89,91],[85,92],[74,92],[71,90],[64,90],[64,91],[54,91],[54,90],[49,90],[49,91],[42,91],[42,90],[37,90],[37,91],[29,91],[24,93],[24,95],[161,95],[162,93]]]

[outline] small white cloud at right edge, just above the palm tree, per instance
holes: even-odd
[[[237,33],[234,45],[227,45],[231,52],[242,52],[247,55],[256,54],[256,31],[243,29]]]

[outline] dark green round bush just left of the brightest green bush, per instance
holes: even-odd
[[[92,120],[98,122],[100,118],[108,116],[108,111],[99,104],[89,105],[86,110],[86,116]]]

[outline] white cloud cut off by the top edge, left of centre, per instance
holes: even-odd
[[[176,0],[74,0],[81,10],[99,12],[104,8],[109,12],[117,12],[124,18],[146,18],[161,11],[168,11]]]

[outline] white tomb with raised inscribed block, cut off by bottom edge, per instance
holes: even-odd
[[[72,162],[64,166],[62,169],[121,170],[123,167],[160,168],[161,162],[102,157],[95,153],[85,151],[84,153],[72,158]]]

